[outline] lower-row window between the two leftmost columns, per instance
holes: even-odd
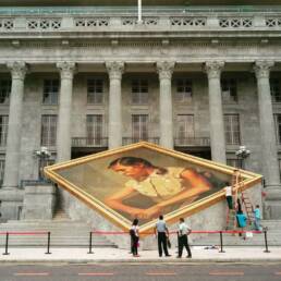
[[[41,146],[56,146],[57,115],[41,117]]]

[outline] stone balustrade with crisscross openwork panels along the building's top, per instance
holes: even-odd
[[[28,14],[28,15],[4,15],[0,11],[0,32],[115,32],[135,29],[138,30],[264,30],[281,28],[281,12],[264,13],[254,15],[251,13],[218,13],[213,14],[186,14],[171,13],[170,15],[148,14],[143,22],[137,22],[134,13],[124,15],[101,14]]]

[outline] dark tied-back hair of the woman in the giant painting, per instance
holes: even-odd
[[[122,166],[138,166],[138,164],[143,164],[146,168],[157,169],[157,174],[166,174],[168,172],[167,169],[154,166],[149,161],[145,160],[144,158],[132,157],[132,156],[120,157],[120,158],[113,160],[112,162],[110,162],[108,168],[111,169],[115,164],[122,164]]]

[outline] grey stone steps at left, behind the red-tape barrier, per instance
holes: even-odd
[[[15,220],[0,224],[0,232],[36,232],[50,231],[51,247],[88,247],[89,232],[93,230],[88,224],[81,221],[72,221],[64,215],[57,216],[54,220]],[[5,235],[0,235],[0,247],[5,243]],[[47,246],[47,234],[41,235],[9,235],[10,246],[45,247]],[[117,247],[106,236],[93,235],[93,247]]]

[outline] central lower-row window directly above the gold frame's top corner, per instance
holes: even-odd
[[[148,115],[132,115],[132,137],[135,140],[148,140]]]

